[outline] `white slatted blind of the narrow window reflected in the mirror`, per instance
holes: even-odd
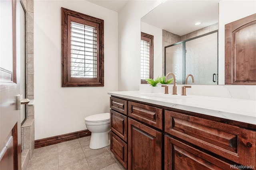
[[[150,42],[141,40],[140,41],[140,78],[149,78],[150,70]]]

